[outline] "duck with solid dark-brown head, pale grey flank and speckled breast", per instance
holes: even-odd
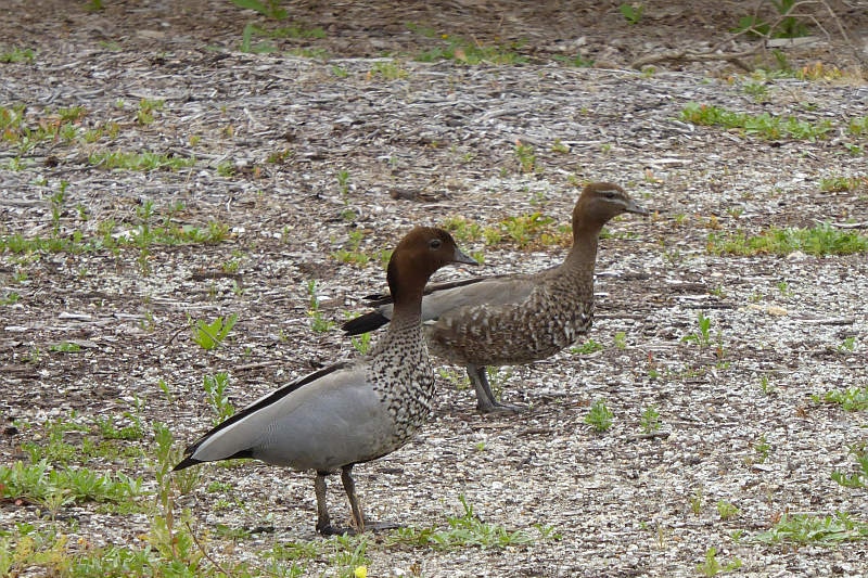
[[[353,466],[400,448],[427,420],[434,375],[420,325],[422,291],[450,262],[476,265],[448,232],[413,229],[390,259],[394,316],[371,352],[261,397],[187,448],[175,470],[233,458],[312,470],[321,534],[346,531],[331,525],[326,500],[326,476],[340,470],[354,527],[363,531]]]

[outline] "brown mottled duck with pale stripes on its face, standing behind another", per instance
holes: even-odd
[[[588,184],[573,209],[573,247],[563,264],[533,274],[474,278],[425,287],[422,320],[429,349],[467,368],[481,412],[519,409],[495,399],[487,365],[545,359],[588,331],[600,231],[622,213],[648,215],[617,184]],[[392,296],[369,299],[376,309],[347,321],[344,331],[356,335],[390,322]]]

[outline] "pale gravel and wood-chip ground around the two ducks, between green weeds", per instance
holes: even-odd
[[[113,29],[103,31],[113,38]],[[100,419],[127,423],[135,399],[148,427],[129,446],[152,457],[153,422],[170,424],[179,445],[191,441],[213,419],[203,375],[227,372],[231,401],[242,407],[356,355],[336,329],[312,331],[308,314],[312,280],[322,317],[334,322],[383,288],[376,259],[359,266],[334,258],[354,240],[373,255],[412,224],[455,217],[490,226],[539,211],[565,224],[576,182],[607,180],[653,214],[608,227],[589,334],[603,348],[501,371],[503,399],[528,406],[518,415],[478,415],[472,390],[443,377],[421,435],[356,468],[371,518],[445,528],[447,516],[463,513],[463,496],[482,519],[537,539],[442,552],[372,537],[368,575],[693,576],[714,548],[722,564],[738,558],[743,576],[868,576],[865,537],[833,545],[756,539],[788,514],[840,512],[868,523],[868,491],[830,478],[856,471],[850,448],[867,440],[866,414],[812,397],[868,387],[866,254],[707,251],[712,233],[769,226],[828,221],[865,234],[866,156],[844,146],[868,147],[864,136],[844,130],[847,118],[868,110],[858,77],[768,80],[758,101],[745,93],[750,79],[725,70],[400,60],[393,79],[378,68],[390,62],[382,57],[208,51],[169,36],[174,43],[139,34],[108,47],[79,27],[42,39],[33,62],[1,65],[0,105],[25,104],[30,127],[56,119],[61,107],[84,106],[79,134],[111,126],[116,132],[92,143],[43,142],[23,155],[0,145],[0,235],[50,236],[50,200],[62,182],[61,236],[95,236],[114,220],[123,237],[140,226],[137,210],[149,201],[159,219],[230,228],[217,244],[0,253],[0,295],[20,295],[0,307],[3,463],[26,461],[22,445],[39,441],[47,420],[71,420],[98,435]],[[137,121],[142,99],[165,103],[146,125]],[[762,140],[679,120],[689,102],[833,128],[814,142]],[[516,141],[535,147],[534,171],[522,170]],[[176,171],[107,170],[89,162],[104,151],[194,163]],[[825,192],[831,178],[855,184]],[[486,273],[538,270],[565,251],[461,244],[484,252]],[[437,279],[476,272],[449,268]],[[191,319],[230,313],[238,324],[225,347],[209,352],[191,341]],[[701,314],[711,320],[707,347],[682,341]],[[843,347],[851,337],[853,348]],[[52,349],[65,342],[80,351]],[[597,400],[614,413],[603,433],[585,423]],[[649,406],[662,426],[643,435]],[[13,421],[33,427],[9,427]],[[143,476],[153,490],[149,462],[88,465]],[[271,530],[237,543],[212,537],[215,560],[255,562],[275,543],[319,540],[311,476],[256,463],[202,471],[196,489],[176,497],[178,512],[191,509],[197,532],[218,524]],[[212,481],[228,489],[207,491]],[[330,497],[333,513],[344,515],[336,479]],[[720,501],[739,513],[722,519]],[[40,510],[4,500],[2,527],[51,524]],[[104,513],[93,503],[65,506],[60,517],[73,550],[141,548],[151,528],[149,515]],[[542,538],[536,525],[560,538]],[[307,574],[331,568],[314,560]]]

